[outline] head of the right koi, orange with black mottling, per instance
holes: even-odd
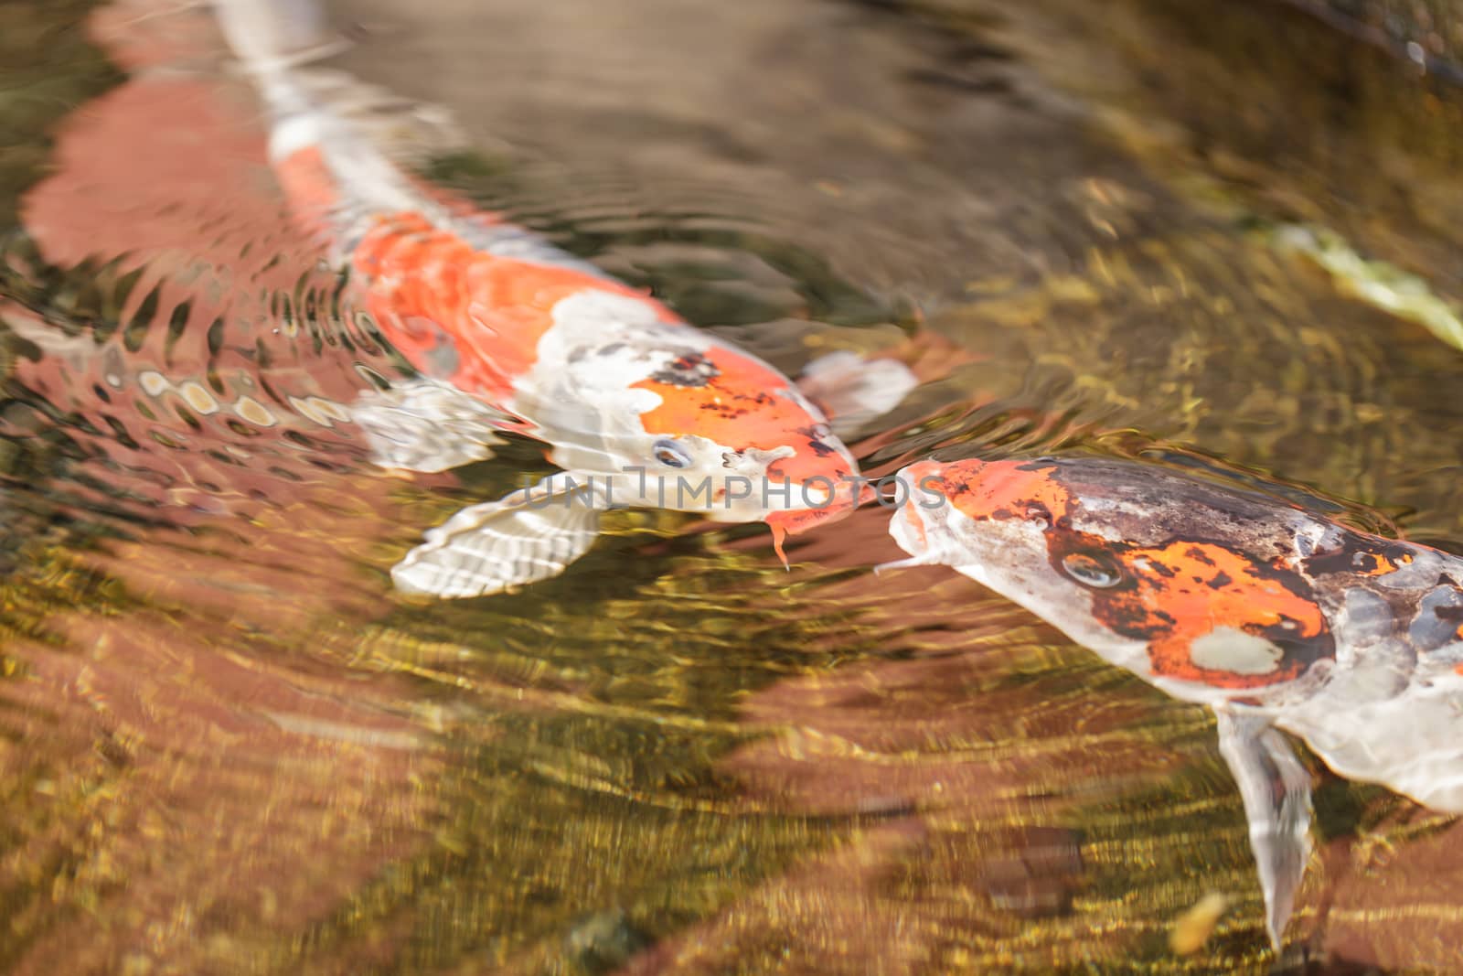
[[[1265,509],[1195,478],[1109,461],[925,461],[890,533],[911,559],[986,584],[1170,688],[1249,694],[1334,657],[1309,581]]]

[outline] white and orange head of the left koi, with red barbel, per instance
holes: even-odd
[[[518,411],[556,464],[612,477],[616,503],[767,521],[781,543],[872,495],[822,411],[758,357],[604,287],[554,319]]]

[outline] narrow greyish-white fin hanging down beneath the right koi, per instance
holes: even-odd
[[[1311,855],[1311,774],[1268,718],[1223,707],[1214,714],[1219,751],[1245,800],[1249,847],[1265,896],[1265,929],[1279,953]]]

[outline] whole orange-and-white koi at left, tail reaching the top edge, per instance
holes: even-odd
[[[310,9],[215,3],[272,116],[271,162],[294,212],[420,373],[366,397],[356,421],[386,467],[454,468],[492,457],[511,432],[547,443],[562,468],[430,530],[392,569],[399,590],[471,597],[557,575],[619,506],[761,519],[781,555],[787,534],[869,495],[824,408],[891,408],[914,385],[907,369],[835,356],[813,370],[815,405],[648,294],[424,186],[342,108],[363,86],[322,85],[323,73],[275,54],[294,25],[317,38]]]

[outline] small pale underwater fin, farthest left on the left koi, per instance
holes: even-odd
[[[446,471],[493,457],[494,432],[515,418],[435,379],[413,379],[361,394],[351,418],[366,432],[372,459],[385,468]]]

